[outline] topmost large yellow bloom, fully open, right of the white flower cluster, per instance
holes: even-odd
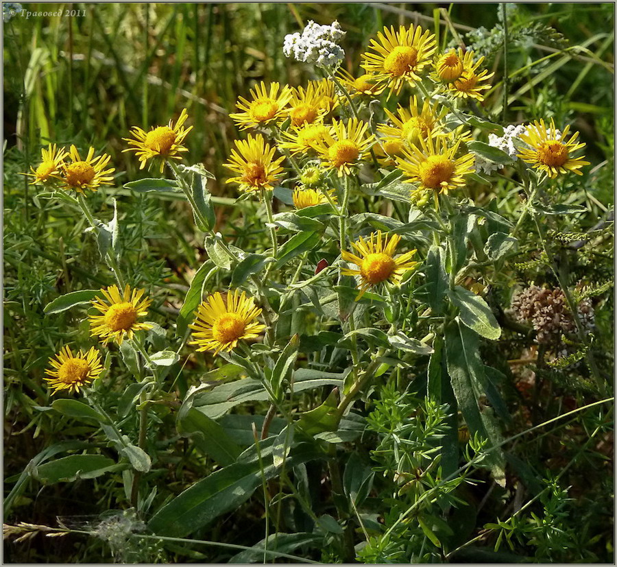
[[[384,27],[371,40],[370,49],[363,53],[361,67],[375,73],[378,82],[385,82],[391,91],[398,94],[405,82],[410,86],[420,81],[420,74],[431,63],[435,53],[435,35],[422,27],[401,25],[398,32],[394,27]]]

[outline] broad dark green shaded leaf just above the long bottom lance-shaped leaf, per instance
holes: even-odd
[[[234,463],[242,453],[241,448],[220,424],[195,408],[183,412],[182,418],[178,413],[176,427],[180,435],[192,437],[195,446],[221,466]]]

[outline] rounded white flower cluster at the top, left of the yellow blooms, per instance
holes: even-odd
[[[337,21],[331,25],[319,25],[309,21],[302,34],[287,34],[283,44],[285,57],[291,57],[303,63],[312,63],[317,67],[337,67],[343,60],[345,52],[339,42],[345,32]]]

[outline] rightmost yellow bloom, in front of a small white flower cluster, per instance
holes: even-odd
[[[570,126],[564,128],[564,132],[559,134],[555,130],[555,123],[551,118],[551,125],[546,128],[544,120],[535,121],[527,126],[527,131],[520,136],[520,139],[530,146],[530,149],[521,149],[517,154],[524,162],[529,163],[535,169],[545,171],[550,178],[556,178],[559,173],[576,173],[581,176],[579,171],[583,165],[590,165],[583,160],[585,156],[572,158],[570,154],[577,149],[585,147],[584,143],[577,143],[579,132],[574,132],[569,140],[566,140]]]

